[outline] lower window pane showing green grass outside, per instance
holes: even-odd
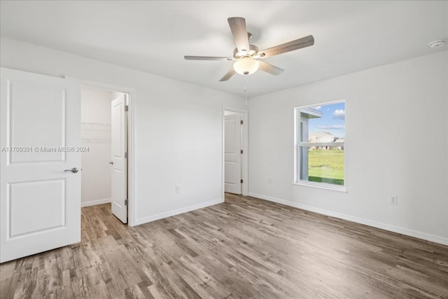
[[[344,186],[344,147],[301,146],[300,179]]]

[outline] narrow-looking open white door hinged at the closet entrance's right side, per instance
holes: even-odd
[[[112,214],[127,223],[127,113],[124,94],[111,103]]]

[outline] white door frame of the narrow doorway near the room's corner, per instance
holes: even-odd
[[[248,196],[248,111],[247,109],[238,109],[234,107],[229,106],[223,106],[223,151],[222,151],[222,158],[223,158],[223,201],[225,200],[225,186],[224,186],[224,177],[225,177],[225,168],[224,168],[224,152],[225,152],[225,111],[231,111],[236,113],[241,113],[242,120],[243,120],[243,130],[241,132],[241,148],[243,149],[243,154],[241,155],[241,179],[243,180],[242,186],[241,186],[241,194],[244,196]]]

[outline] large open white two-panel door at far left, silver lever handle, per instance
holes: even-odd
[[[0,262],[80,242],[80,84],[1,68],[0,125]]]

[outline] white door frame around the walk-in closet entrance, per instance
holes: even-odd
[[[136,92],[134,88],[127,88],[120,85],[102,83],[97,81],[90,81],[83,78],[74,78],[81,83],[81,88],[99,88],[102,90],[110,90],[116,92],[123,92],[128,95],[127,104],[129,106],[127,114],[127,224],[134,226],[135,224],[135,118],[134,118],[134,102],[136,100]]]

